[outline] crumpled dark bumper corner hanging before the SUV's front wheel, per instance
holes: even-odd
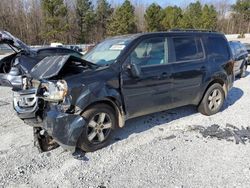
[[[56,107],[46,113],[43,129],[64,149],[74,152],[86,121],[79,114],[58,111]]]

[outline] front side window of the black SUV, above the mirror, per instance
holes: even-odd
[[[143,40],[130,54],[130,62],[141,67],[166,64],[166,46],[163,37]]]

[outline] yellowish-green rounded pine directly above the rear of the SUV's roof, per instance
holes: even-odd
[[[213,5],[205,5],[202,9],[202,29],[211,29],[215,30],[217,26],[217,17],[218,14]]]

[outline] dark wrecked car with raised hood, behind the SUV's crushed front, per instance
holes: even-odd
[[[6,31],[0,31],[0,44],[9,45],[13,53],[0,60],[0,86],[20,89],[22,78],[43,58],[54,55],[71,54],[81,57],[81,53],[67,48],[31,49],[21,40]]]

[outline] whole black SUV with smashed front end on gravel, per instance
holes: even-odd
[[[95,151],[125,120],[195,105],[217,113],[234,82],[223,34],[169,31],[106,39],[84,59],[47,57],[14,93],[20,118],[43,151],[58,143]]]

